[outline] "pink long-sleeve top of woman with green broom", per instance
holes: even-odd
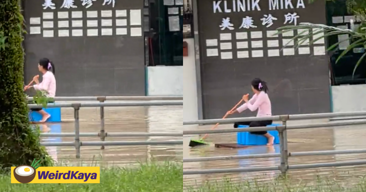
[[[271,101],[269,100],[268,94],[264,91],[261,93],[254,94],[253,97],[236,110],[241,113],[244,110],[249,109],[255,111],[258,109],[257,117],[272,116]]]

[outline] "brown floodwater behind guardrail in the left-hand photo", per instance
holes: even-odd
[[[182,132],[183,106],[106,107],[106,132]],[[40,125],[41,132],[74,132],[74,110],[61,109],[61,124]],[[80,132],[100,132],[99,108],[80,109]],[[106,141],[181,140],[180,137],[107,137]],[[73,142],[74,137],[45,137],[42,142]],[[81,137],[81,141],[100,141],[98,137]],[[74,147],[46,147],[55,161],[98,161],[108,165],[125,165],[137,161],[182,160],[180,146],[82,146],[81,158],[76,159]]]

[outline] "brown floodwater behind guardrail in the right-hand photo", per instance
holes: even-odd
[[[325,120],[317,121],[289,121],[293,124],[323,123]],[[322,150],[345,150],[345,149],[365,149],[364,138],[366,132],[364,125],[349,126],[341,128],[317,128],[300,129],[288,131],[288,151],[322,151]],[[184,130],[209,129],[210,125],[204,126],[184,126]],[[232,125],[220,125],[219,129],[232,128]],[[201,135],[202,136],[202,135]],[[184,158],[209,157],[219,155],[245,155],[245,154],[266,154],[279,153],[279,145],[273,147],[257,146],[245,149],[215,148],[214,146],[188,147],[190,139],[197,139],[198,136],[184,136],[183,156]],[[236,133],[212,134],[207,141],[213,143],[235,143]],[[356,161],[364,160],[366,154],[340,154],[340,155],[319,155],[290,157],[289,164],[324,163],[336,161]],[[184,170],[198,169],[223,169],[253,166],[279,166],[280,158],[260,158],[260,159],[240,159],[225,161],[187,162],[183,163]],[[366,166],[346,166],[346,167],[326,167],[317,169],[290,170],[290,178],[302,182],[314,181],[315,175],[330,176],[338,183],[350,183],[359,180],[359,176],[364,176]],[[205,174],[205,175],[184,175],[183,186],[199,184],[206,181],[214,181],[223,177],[230,177],[233,181],[257,180],[268,181],[279,176],[279,171],[252,172],[252,173],[226,173],[226,174]]]

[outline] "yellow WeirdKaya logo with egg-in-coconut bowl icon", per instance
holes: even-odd
[[[39,162],[11,167],[11,183],[100,183],[100,167],[36,166]]]

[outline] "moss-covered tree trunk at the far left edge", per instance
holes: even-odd
[[[39,131],[30,127],[23,92],[23,16],[18,0],[0,1],[0,171],[12,165],[51,164],[40,145]],[[8,169],[7,169],[8,170]]]

